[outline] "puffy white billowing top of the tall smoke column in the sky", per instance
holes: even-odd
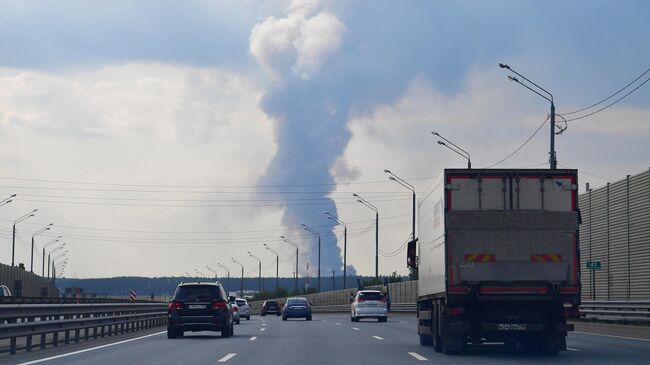
[[[318,72],[342,42],[343,24],[333,14],[318,11],[318,1],[295,1],[284,18],[269,17],[256,24],[250,51],[263,65],[289,70],[302,79]]]

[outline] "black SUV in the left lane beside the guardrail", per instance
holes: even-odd
[[[167,338],[183,336],[185,331],[221,331],[233,335],[232,311],[220,283],[181,283],[169,302]]]

